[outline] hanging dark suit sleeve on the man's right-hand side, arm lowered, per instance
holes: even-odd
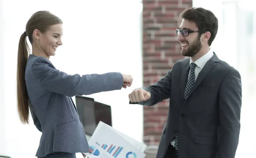
[[[241,76],[232,69],[219,91],[220,147],[218,158],[235,158],[240,133]]]

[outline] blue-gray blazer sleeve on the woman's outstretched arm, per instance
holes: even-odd
[[[37,57],[32,64],[32,75],[45,90],[66,96],[90,95],[120,90],[123,85],[121,73],[68,75],[57,70],[49,60]]]

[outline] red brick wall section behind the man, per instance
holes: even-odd
[[[175,61],[183,59],[175,29],[178,15],[192,7],[192,0],[143,0],[143,86],[161,79]],[[166,122],[169,99],[144,107],[144,142],[158,145]]]

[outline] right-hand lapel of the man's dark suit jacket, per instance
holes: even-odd
[[[195,91],[195,89],[198,87],[198,85],[203,81],[203,79],[205,78],[205,76],[207,76],[207,74],[212,70],[212,68],[216,65],[216,63],[219,61],[217,55],[213,52],[213,56],[211,59],[209,59],[209,61],[206,63],[206,65],[204,65],[204,68],[200,71],[200,73],[198,74],[197,79],[195,80],[195,83],[193,85],[193,87],[191,88],[187,98],[189,98],[189,96]],[[185,83],[186,86],[186,83]],[[183,94],[184,96],[184,94]],[[183,97],[184,98],[184,97]]]

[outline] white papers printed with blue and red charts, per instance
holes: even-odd
[[[89,158],[145,158],[146,145],[100,121],[89,141]]]

